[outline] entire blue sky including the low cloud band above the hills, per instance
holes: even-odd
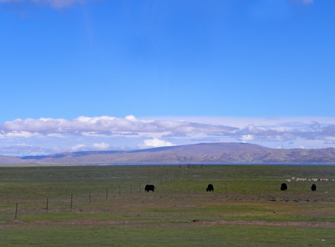
[[[0,0],[0,154],[334,147],[334,9]]]

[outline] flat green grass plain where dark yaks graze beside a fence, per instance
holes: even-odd
[[[280,191],[292,176],[329,180]],[[332,165],[0,167],[0,246],[334,246],[333,178]]]

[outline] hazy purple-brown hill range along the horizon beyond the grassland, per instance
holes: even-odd
[[[335,163],[335,148],[273,149],[250,143],[199,143],[130,151],[0,156],[0,164]]]

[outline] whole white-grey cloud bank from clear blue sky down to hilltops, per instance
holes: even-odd
[[[332,148],[331,117],[77,117],[0,124],[0,154],[133,150],[200,142],[249,142],[269,148]],[[26,143],[24,148],[18,143]],[[79,143],[79,144],[78,144]],[[6,151],[7,150],[7,151]],[[15,151],[16,150],[16,151]],[[38,153],[40,152],[40,153]]]

